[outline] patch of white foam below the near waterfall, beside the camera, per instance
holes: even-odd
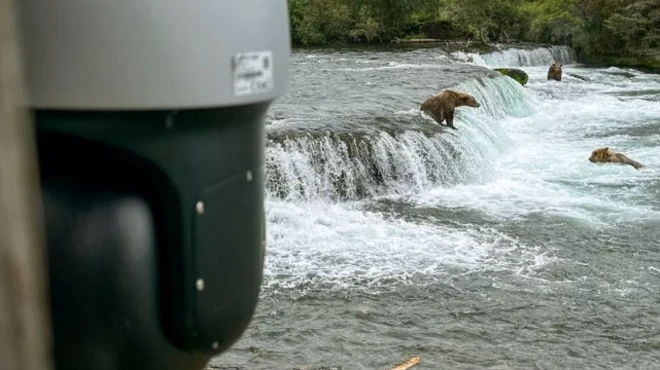
[[[509,270],[533,275],[552,258],[495,230],[390,219],[349,204],[269,200],[265,287],[360,288]]]

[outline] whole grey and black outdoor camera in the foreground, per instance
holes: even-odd
[[[18,4],[56,368],[203,368],[257,304],[286,0]]]

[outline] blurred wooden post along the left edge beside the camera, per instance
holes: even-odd
[[[0,0],[0,369],[51,369],[45,232],[14,0]]]

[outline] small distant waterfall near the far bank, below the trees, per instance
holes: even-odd
[[[487,54],[452,53],[457,60],[484,67],[549,66],[552,63],[571,64],[577,57],[568,46],[539,47],[535,49],[510,48]]]

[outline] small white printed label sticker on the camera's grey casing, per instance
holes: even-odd
[[[273,52],[238,53],[232,59],[234,95],[245,96],[273,89]]]

